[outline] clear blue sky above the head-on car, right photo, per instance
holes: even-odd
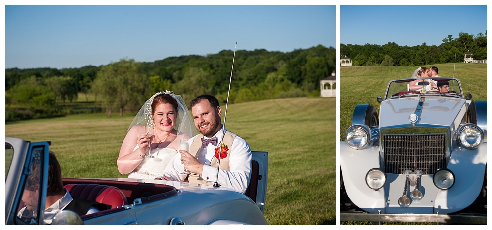
[[[470,2],[471,3],[471,2]],[[487,30],[487,5],[341,5],[340,43],[440,45],[460,32]]]

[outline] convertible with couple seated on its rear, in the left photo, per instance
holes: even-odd
[[[5,138],[5,225],[42,225],[47,187],[50,142],[29,142]],[[20,218],[21,197],[29,165],[39,164],[37,213]],[[78,216],[63,211],[53,224],[84,225],[266,225],[268,153],[253,151],[251,182],[246,193],[225,187],[186,182],[128,178],[63,178],[64,187],[74,197],[106,204],[107,210]]]

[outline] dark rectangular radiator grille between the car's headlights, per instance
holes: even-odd
[[[384,135],[384,169],[386,173],[403,174],[406,169],[420,169],[434,174],[446,167],[444,134]]]

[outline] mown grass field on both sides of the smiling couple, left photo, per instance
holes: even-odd
[[[84,114],[6,123],[5,136],[51,141],[63,177],[126,177],[116,159],[132,119]],[[269,153],[270,225],[335,224],[335,98],[230,104],[226,128]]]

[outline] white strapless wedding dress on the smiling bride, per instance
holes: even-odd
[[[137,145],[138,148],[138,145]],[[136,148],[135,148],[136,149]],[[167,164],[178,153],[176,149],[163,148],[151,150],[153,158],[144,157],[142,162],[128,175],[128,178],[155,179],[166,169]],[[157,175],[157,176],[156,176]]]

